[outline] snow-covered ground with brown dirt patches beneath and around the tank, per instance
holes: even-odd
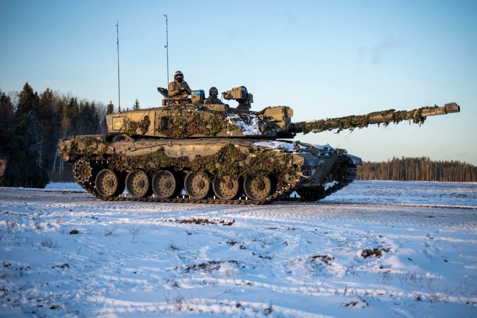
[[[0,188],[0,316],[477,317],[476,213],[477,183],[268,206]]]

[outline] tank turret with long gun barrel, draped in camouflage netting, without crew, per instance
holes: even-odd
[[[165,97],[164,89],[158,88]],[[196,92],[196,91],[193,91]],[[197,91],[198,92],[198,91]],[[203,93],[203,91],[202,91]],[[192,93],[194,94],[194,93]],[[250,137],[293,138],[296,133],[323,132],[367,127],[370,124],[398,123],[402,120],[422,124],[427,116],[459,112],[456,103],[425,106],[412,110],[382,110],[365,115],[308,120],[293,123],[293,109],[287,106],[250,111],[253,96],[244,86],[222,93],[226,100],[239,103],[205,105],[203,99],[170,99],[170,106],[124,111],[106,115],[108,132],[156,138]],[[164,100],[167,101],[167,100]],[[163,103],[164,104],[164,103]]]

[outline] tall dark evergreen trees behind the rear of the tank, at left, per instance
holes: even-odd
[[[136,99],[132,108],[139,107]],[[49,88],[38,93],[28,83],[8,95],[0,88],[0,158],[7,162],[8,186],[73,181],[71,164],[63,164],[56,154],[58,141],[70,135],[105,133],[104,115],[114,110],[112,102],[104,105]]]

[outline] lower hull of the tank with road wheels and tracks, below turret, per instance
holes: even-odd
[[[102,200],[214,204],[268,204],[295,191],[316,201],[351,183],[362,164],[344,149],[299,141],[127,134],[71,136],[58,155]]]

